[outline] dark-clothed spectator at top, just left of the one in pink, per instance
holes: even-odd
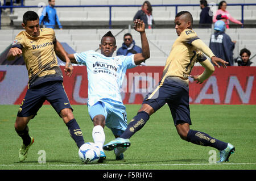
[[[200,7],[202,10],[200,12],[200,20],[199,20],[200,28],[212,28],[212,11],[207,6],[207,1],[201,0]]]

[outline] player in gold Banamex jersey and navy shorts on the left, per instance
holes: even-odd
[[[34,142],[28,133],[28,121],[36,116],[45,100],[63,119],[69,134],[75,140],[78,148],[84,144],[84,138],[69,103],[63,86],[63,74],[57,64],[56,54],[66,60],[65,74],[72,75],[73,67],[65,50],[56,40],[52,28],[40,28],[38,14],[27,11],[23,15],[21,31],[16,37],[7,54],[7,60],[23,56],[28,70],[28,90],[20,104],[15,121],[15,131],[22,138],[23,144],[19,150],[19,161],[27,158],[27,152]]]

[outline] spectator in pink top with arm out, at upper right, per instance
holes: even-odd
[[[218,10],[216,12],[216,14],[213,16],[213,22],[217,22],[217,15],[221,14],[221,15],[226,15],[228,17],[228,19],[226,20],[226,28],[229,28],[229,20],[232,21],[233,23],[237,23],[237,24],[241,24],[242,23],[237,20],[237,19],[234,19],[228,11],[226,11],[226,1],[221,1],[219,4],[218,4]]]

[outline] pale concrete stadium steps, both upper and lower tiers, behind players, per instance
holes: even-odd
[[[43,2],[48,5],[48,0],[25,0],[25,6],[37,6],[39,2]],[[144,1],[142,0],[61,0],[56,1],[57,5],[142,5]],[[212,0],[211,2],[218,2]],[[251,0],[227,0],[227,3],[255,3]],[[154,0],[151,1],[152,5],[167,5],[167,4],[199,4],[197,0]],[[111,29],[117,39],[117,47],[121,47],[123,42],[123,35],[126,32],[130,32],[134,37],[135,43],[141,46],[141,40],[137,32],[132,28],[128,28],[128,24],[132,24],[132,19],[141,7],[112,7],[112,20],[116,24],[123,23],[126,24],[125,28],[114,28]],[[17,8],[14,9],[14,15],[17,19],[13,19],[14,26],[19,27],[19,30],[0,30],[0,55],[14,40],[15,36],[20,30],[20,24],[22,23],[22,16],[27,10],[39,11],[40,8]],[[63,26],[81,26],[88,24],[104,24],[108,27],[109,23],[109,7],[56,7],[57,13],[60,18],[60,22]],[[245,20],[256,19],[256,9],[255,6],[245,6]],[[200,6],[181,6],[178,7],[178,11],[188,10],[192,13],[195,22],[199,20]],[[234,18],[241,20],[241,7],[240,6],[229,6],[228,10]],[[153,7],[153,16],[158,24],[164,24],[174,20],[175,17],[175,7]],[[172,23],[173,24],[173,23]],[[152,66],[164,66],[166,58],[171,50],[171,46],[177,38],[176,32],[173,25],[168,26],[168,28],[155,28],[147,30],[147,37],[150,43],[151,57],[147,60],[147,65]],[[209,45],[210,35],[212,33],[211,29],[194,29],[197,35]],[[75,52],[82,52],[85,50],[97,50],[100,43],[100,38],[108,31],[108,28],[93,28],[93,29],[76,29],[69,28],[60,31],[55,30],[56,37],[61,43],[67,43]],[[228,35],[232,40],[236,40],[236,48],[234,49],[234,57],[237,57],[240,49],[247,48],[251,51],[251,57],[256,54],[255,43],[256,43],[256,28],[230,28],[226,30]],[[256,62],[256,57],[252,60]],[[0,62],[1,63],[1,62]]]

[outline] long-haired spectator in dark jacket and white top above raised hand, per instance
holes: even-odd
[[[149,1],[144,1],[143,5],[141,6],[141,10],[139,10],[133,20],[141,19],[146,25],[146,28],[151,29],[154,27],[154,19],[152,16],[152,6]]]

